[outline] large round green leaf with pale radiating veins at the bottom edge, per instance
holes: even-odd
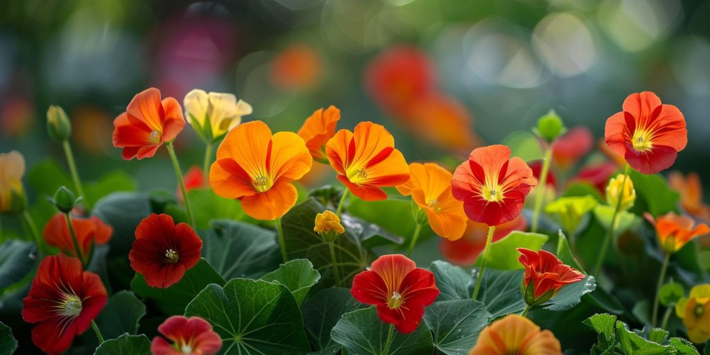
[[[208,320],[222,337],[219,354],[307,354],[301,313],[288,288],[264,280],[235,278],[224,288],[208,285],[185,316]]]

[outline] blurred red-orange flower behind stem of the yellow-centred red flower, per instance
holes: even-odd
[[[496,231],[493,231],[492,241],[498,241],[511,231],[524,231],[528,227],[528,221],[523,214],[518,215],[510,222],[499,224]],[[439,242],[439,250],[444,258],[451,263],[460,266],[471,266],[476,262],[481,252],[486,247],[486,237],[488,236],[488,226],[483,223],[474,222],[470,219],[466,222],[464,236],[455,241],[442,239]]]

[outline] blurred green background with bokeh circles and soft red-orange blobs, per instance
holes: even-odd
[[[4,0],[0,151],[63,164],[45,131],[58,104],[82,178],[122,169],[138,190],[173,191],[165,150],[126,162],[111,145],[114,117],[146,87],[180,102],[232,92],[253,107],[245,121],[275,131],[334,104],[339,128],[376,121],[408,160],[452,162],[549,109],[588,127],[594,148],[623,99],[651,90],[687,119],[674,168],[704,176],[709,20],[699,0]],[[190,126],[178,148],[183,170],[202,162]]]

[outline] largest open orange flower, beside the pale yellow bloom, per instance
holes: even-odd
[[[209,185],[219,196],[241,201],[249,216],[271,220],[283,216],[298,197],[291,183],[308,173],[313,158],[302,138],[278,132],[262,121],[232,129],[217,148]]]

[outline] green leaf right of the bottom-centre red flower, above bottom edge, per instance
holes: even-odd
[[[475,300],[436,302],[424,312],[424,321],[434,333],[434,346],[447,355],[469,354],[490,320],[484,304]]]

